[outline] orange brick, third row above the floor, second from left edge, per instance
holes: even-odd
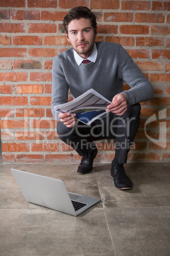
[[[15,139],[16,140],[42,140],[44,139],[44,132],[36,132],[36,131],[20,131],[15,132]]]

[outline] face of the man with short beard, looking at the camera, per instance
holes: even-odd
[[[88,59],[95,45],[96,34],[88,18],[72,20],[68,25],[67,40],[82,58]]]

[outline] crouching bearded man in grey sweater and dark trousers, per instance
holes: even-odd
[[[59,120],[59,138],[82,156],[77,173],[89,173],[97,154],[94,141],[115,139],[115,158],[111,177],[116,188],[132,188],[124,171],[128,152],[140,125],[140,102],[154,96],[152,85],[121,45],[96,42],[95,15],[86,7],[75,7],[63,19],[65,34],[72,48],[57,55],[53,61],[51,110]],[[85,61],[84,61],[85,60]],[[131,89],[122,92],[123,81]],[[57,114],[56,104],[67,102],[68,92],[78,97],[95,89],[112,103],[106,115],[91,125],[77,122],[75,113]]]

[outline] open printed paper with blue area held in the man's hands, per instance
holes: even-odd
[[[73,101],[56,105],[54,108],[60,113],[75,113],[77,120],[89,125],[106,113],[105,109],[110,103],[96,90],[90,89]]]

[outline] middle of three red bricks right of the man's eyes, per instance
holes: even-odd
[[[148,34],[147,25],[121,25],[121,34]]]

